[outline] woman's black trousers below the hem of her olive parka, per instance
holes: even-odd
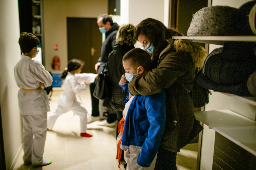
[[[155,170],[177,170],[176,156],[176,152],[165,150],[159,146],[156,157]]]

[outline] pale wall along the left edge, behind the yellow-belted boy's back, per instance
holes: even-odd
[[[20,59],[18,1],[0,0],[0,13],[0,105],[8,170],[22,144],[22,117],[17,99],[19,88],[13,73]]]

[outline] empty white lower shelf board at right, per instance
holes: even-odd
[[[256,155],[256,122],[230,110],[195,112],[195,118]]]

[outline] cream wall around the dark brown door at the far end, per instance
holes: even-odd
[[[108,0],[44,0],[45,69],[52,70],[55,55],[60,57],[60,69],[67,67],[67,17],[97,18],[107,13]]]

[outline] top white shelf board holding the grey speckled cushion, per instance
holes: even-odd
[[[256,42],[256,36],[174,36],[172,39],[193,40],[193,42],[200,42],[206,44],[216,44],[223,46],[224,42],[228,41],[243,41]]]

